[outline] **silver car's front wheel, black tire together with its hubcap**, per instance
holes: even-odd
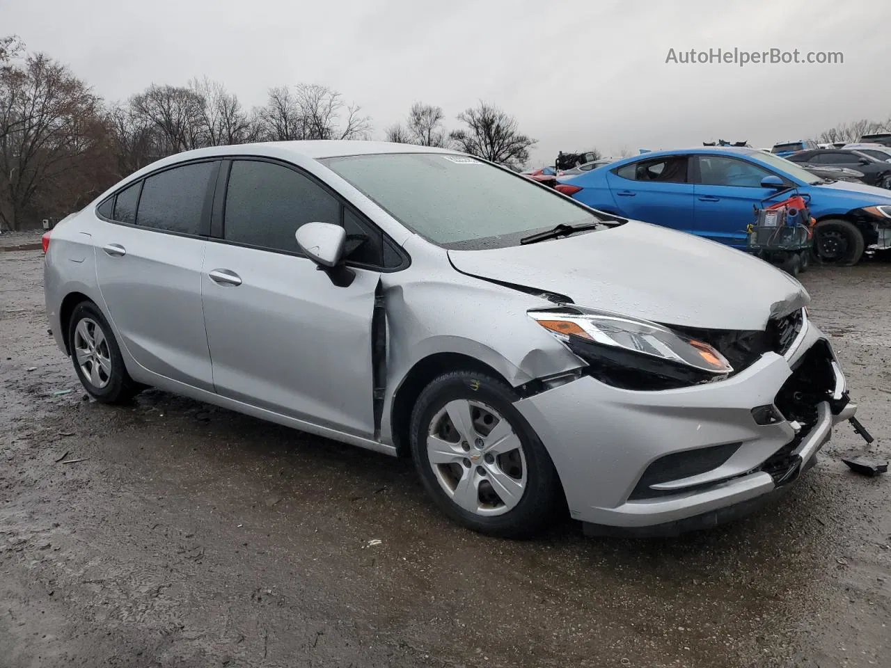
[[[412,411],[412,457],[424,488],[448,517],[481,534],[531,537],[562,498],[550,455],[513,405],[518,398],[501,380],[454,371],[430,382]],[[431,432],[437,440],[429,447]],[[502,446],[490,450],[489,436]]]

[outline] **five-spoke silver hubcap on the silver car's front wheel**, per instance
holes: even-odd
[[[526,490],[526,455],[519,436],[486,403],[446,403],[430,420],[427,456],[449,498],[476,515],[503,515]]]

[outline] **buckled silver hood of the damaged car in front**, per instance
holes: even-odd
[[[763,330],[770,318],[810,302],[798,281],[756,257],[636,221],[560,240],[448,255],[458,271],[478,278],[682,327]]]

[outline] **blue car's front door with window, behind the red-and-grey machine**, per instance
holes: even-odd
[[[691,162],[691,177],[696,182],[697,232],[707,239],[744,248],[746,228],[755,220],[756,205],[777,192],[762,188],[761,180],[774,174],[738,157],[707,154],[695,156]]]

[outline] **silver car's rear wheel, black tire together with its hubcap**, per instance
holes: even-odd
[[[127,403],[143,389],[127,373],[110,325],[93,302],[75,306],[68,340],[74,371],[96,401]]]

